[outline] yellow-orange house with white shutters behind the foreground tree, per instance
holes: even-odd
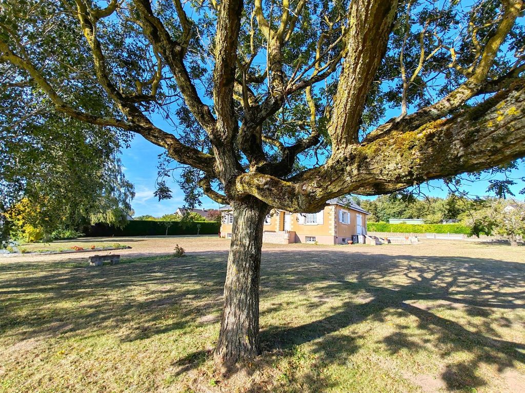
[[[220,208],[222,224],[220,236],[231,237],[235,212],[230,206]],[[366,216],[370,213],[359,205],[341,199],[331,199],[317,213],[290,213],[272,210],[266,217],[262,242],[264,243],[364,243]],[[353,236],[353,237],[352,237]]]

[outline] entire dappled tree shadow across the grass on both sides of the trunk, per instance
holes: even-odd
[[[5,305],[0,310],[0,334],[16,341],[49,334],[85,336],[96,329],[130,342],[196,329],[199,318],[220,313],[226,256],[226,252],[204,251],[178,259],[130,259],[131,263],[97,269],[75,265],[75,260],[5,265],[0,270]],[[310,343],[309,351],[324,367],[344,364],[367,336],[342,329],[367,320],[383,321],[386,316],[411,316],[418,329],[429,333],[430,344],[446,348],[440,353],[443,358],[460,352],[476,354],[474,360],[445,365],[440,377],[447,388],[482,386],[486,381],[477,376],[481,364],[500,370],[516,362],[525,364],[525,346],[499,337],[487,318],[491,310],[525,307],[523,277],[525,264],[489,258],[391,256],[333,248],[267,250],[262,261],[262,299],[316,285],[318,295],[307,297],[307,309],[342,301],[328,315],[299,326],[272,323],[261,331],[262,347],[293,358],[300,356],[297,348]],[[62,301],[78,305],[62,309]],[[271,304],[262,313],[271,315],[287,307]],[[484,322],[473,331],[461,321],[436,315],[435,307],[460,307]],[[20,316],[19,310],[25,308],[31,312]],[[68,327],[57,332],[57,323]],[[498,323],[508,326],[511,321],[504,318]],[[404,348],[417,351],[421,344],[397,325],[382,345],[395,354]],[[176,375],[198,368],[206,353],[197,347],[174,359]],[[307,391],[337,385],[318,371],[301,374]]]

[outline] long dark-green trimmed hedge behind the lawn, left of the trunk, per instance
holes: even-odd
[[[91,225],[85,231],[86,236],[107,237],[107,236],[161,236],[166,234],[164,223],[171,222],[167,229],[168,235],[196,235],[197,225],[201,225],[199,234],[218,235],[220,223],[209,221],[128,221],[123,228],[116,228],[108,224]]]

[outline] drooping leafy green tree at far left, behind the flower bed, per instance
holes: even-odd
[[[17,211],[15,233],[35,241],[90,223],[123,225],[134,195],[118,157],[125,135],[56,113],[24,118],[33,97],[16,92],[0,108],[0,199],[4,213]]]

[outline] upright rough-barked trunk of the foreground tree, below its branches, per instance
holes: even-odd
[[[253,197],[232,204],[234,222],[228,254],[224,309],[215,349],[215,363],[224,373],[239,359],[259,349],[259,276],[262,227],[268,205]]]

